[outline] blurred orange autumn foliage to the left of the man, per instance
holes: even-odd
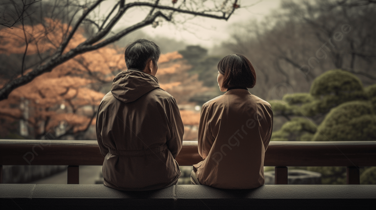
[[[62,39],[59,31],[69,30],[60,21],[46,18],[45,22],[48,24],[25,25],[24,31],[29,39],[27,55],[53,52]],[[0,36],[4,37],[0,41],[3,46],[0,53],[22,54],[24,31],[3,28],[0,31]],[[85,41],[85,37],[77,34],[72,40],[66,50]],[[28,129],[23,135],[29,134],[29,138],[77,137],[93,123],[97,106],[104,96],[100,92],[103,84],[112,82],[114,75],[124,68],[123,56],[116,49],[105,47],[77,55],[52,71],[35,77],[12,91],[8,99],[0,101],[2,137],[15,130],[12,123],[15,119],[26,122]]]

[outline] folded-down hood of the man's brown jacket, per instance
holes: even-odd
[[[111,93],[118,100],[129,103],[155,88],[159,88],[158,79],[155,76],[129,69],[115,76]]]

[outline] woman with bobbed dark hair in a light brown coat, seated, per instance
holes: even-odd
[[[201,109],[193,184],[252,189],[264,184],[264,154],[273,128],[270,104],[250,94],[256,73],[250,61],[231,54],[218,63],[218,86],[226,92]]]

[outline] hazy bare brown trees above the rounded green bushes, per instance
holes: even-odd
[[[356,74],[365,85],[376,81],[374,1],[282,1],[279,11],[234,28],[233,41],[223,45],[254,63],[256,95],[281,99],[287,92],[286,85],[275,88],[279,83],[308,92],[331,69]],[[271,96],[273,89],[279,97]]]

